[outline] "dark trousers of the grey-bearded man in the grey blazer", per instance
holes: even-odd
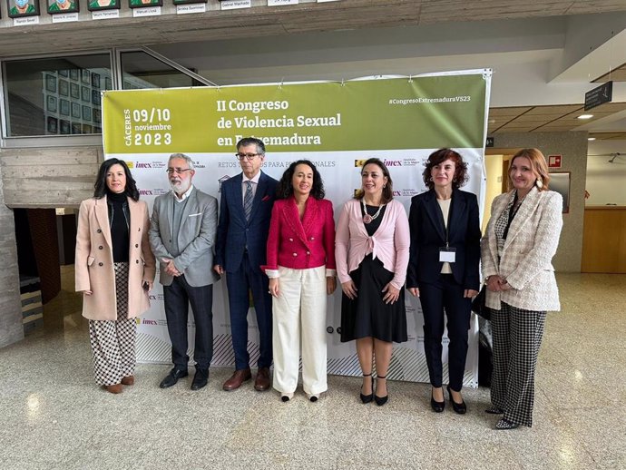
[[[196,367],[209,368],[213,357],[213,286],[194,288],[183,274],[174,278],[170,286],[163,286],[163,300],[174,366],[186,369],[189,363],[187,317],[191,305],[196,324],[193,360],[196,361]]]

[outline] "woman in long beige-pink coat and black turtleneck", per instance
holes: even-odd
[[[126,162],[104,161],[94,187],[78,215],[76,291],[89,319],[95,381],[120,393],[134,383],[135,318],[150,307],[150,222]]]

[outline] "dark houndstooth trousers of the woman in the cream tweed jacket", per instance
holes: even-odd
[[[533,426],[534,371],[542,344],[546,312],[523,310],[502,302],[492,310],[494,372],[491,402],[504,418]]]

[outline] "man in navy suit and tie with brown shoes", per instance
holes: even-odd
[[[230,332],[235,351],[235,373],[224,390],[241,387],[252,375],[248,352],[249,291],[259,326],[259,362],[254,388],[269,389],[272,361],[271,296],[268,278],[260,266],[266,264],[269,219],[279,181],[260,171],[265,161],[265,145],[246,137],[237,142],[235,155],[241,172],[221,184],[220,222],[216,240],[215,266],[226,273],[229,290]]]

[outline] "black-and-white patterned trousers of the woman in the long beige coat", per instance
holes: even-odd
[[[119,384],[135,368],[135,318],[128,317],[128,263],[113,263],[115,270],[116,320],[89,320],[93,352],[93,375],[98,385]]]

